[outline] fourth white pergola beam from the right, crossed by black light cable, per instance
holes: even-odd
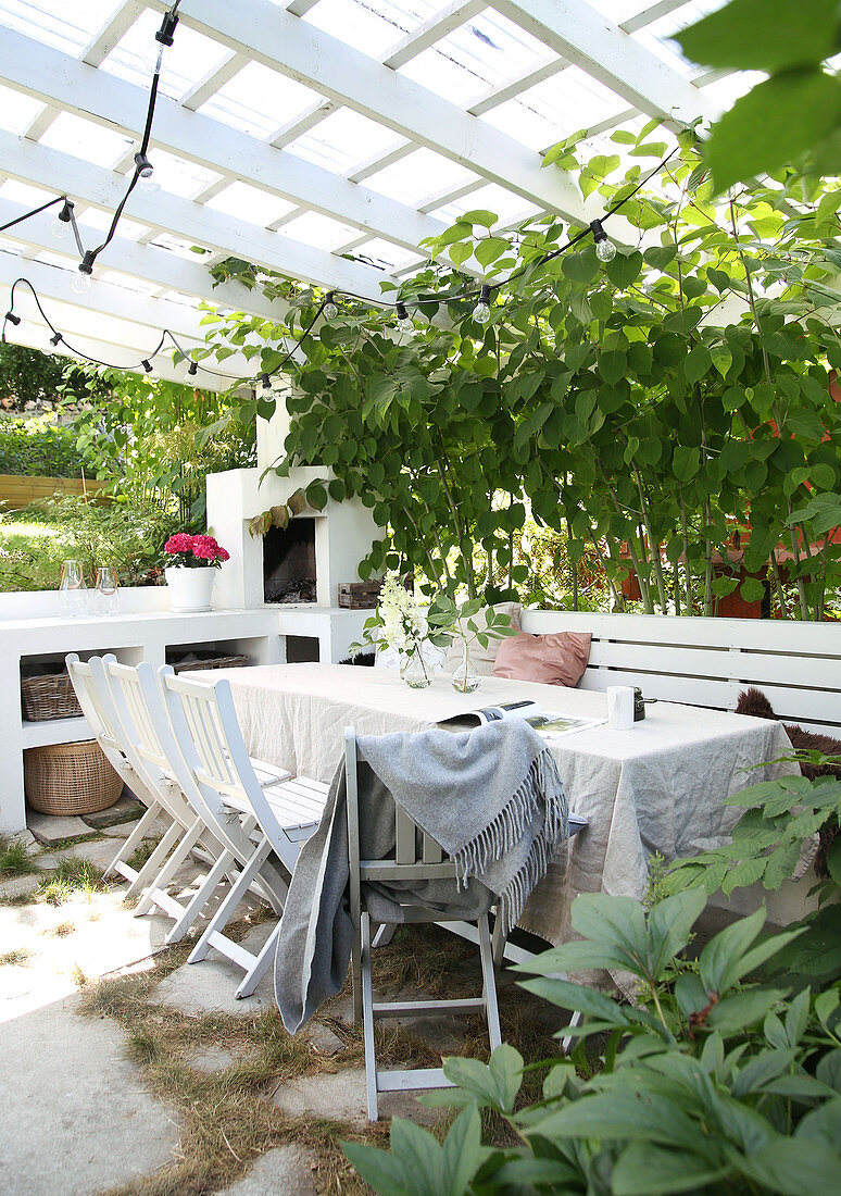
[[[123,175],[10,133],[0,132],[0,161],[4,163],[6,173],[13,178],[56,190],[57,194],[68,195],[78,202],[92,203],[106,212],[115,210],[125,191]],[[369,266],[349,262],[320,249],[311,249],[281,233],[269,232],[162,191],[149,194],[136,189],[127,214],[143,224],[168,228],[185,240],[222,250],[293,279],[336,291],[351,291],[370,300],[380,300],[380,281],[388,277]],[[108,266],[106,250],[100,258],[100,267]]]

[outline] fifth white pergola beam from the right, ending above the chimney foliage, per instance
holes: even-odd
[[[26,210],[22,203],[0,200],[0,224],[24,215]],[[67,255],[70,264],[78,263],[78,256],[74,255],[70,243],[56,240],[51,236],[51,221],[53,213],[44,212],[41,215],[30,216],[29,220],[16,225],[14,228],[10,228],[8,232],[4,233],[4,237],[27,245],[36,252],[45,250],[59,256]],[[84,220],[79,221],[79,227],[85,244],[91,244],[102,236],[100,230],[92,228]],[[282,303],[272,303],[265,298],[262,291],[257,288],[250,291],[241,282],[221,282],[214,287],[207,269],[208,257],[190,262],[170,250],[115,237],[108,248],[108,261],[103,258],[103,262],[108,269],[116,270],[118,274],[149,282],[166,291],[176,291],[195,299],[204,299],[215,307],[244,311],[266,319],[282,319],[286,312],[286,306]]]

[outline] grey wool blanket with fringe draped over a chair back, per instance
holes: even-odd
[[[564,786],[527,722],[477,731],[360,737],[360,852],[394,854],[394,803],[455,862],[458,879],[369,884],[374,922],[403,921],[400,902],[474,919],[498,902],[505,930],[520,917],[567,837]],[[290,1033],[339,991],[352,941],[344,761],[321,823],[295,866],[275,957],[275,996]]]

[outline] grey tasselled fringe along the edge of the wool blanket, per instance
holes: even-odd
[[[516,926],[532,890],[546,875],[555,844],[569,837],[569,806],[564,782],[548,748],[544,748],[532,762],[522,785],[493,822],[454,856],[458,886],[461,889],[468,877],[481,878],[490,864],[502,859],[505,852],[521,842],[536,822],[540,806],[544,808],[544,820],[535,832],[528,858],[505,892],[498,895],[499,916],[505,934]]]

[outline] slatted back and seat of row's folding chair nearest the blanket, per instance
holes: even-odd
[[[205,801],[253,813],[291,873],[301,840],[320,818],[324,797],[313,799],[312,810],[306,806],[306,797],[291,800],[283,786],[277,787],[271,800],[266,798],[248,758],[227,679],[208,684],[162,669],[160,681],[184,761]]]

